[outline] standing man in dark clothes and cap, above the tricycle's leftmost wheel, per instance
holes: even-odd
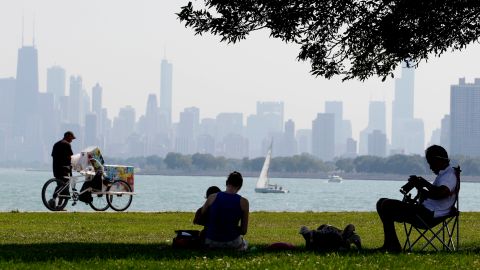
[[[73,155],[70,143],[75,139],[71,131],[65,132],[63,139],[56,142],[52,149],[53,176],[57,179],[66,180],[65,176],[72,174],[71,158]]]

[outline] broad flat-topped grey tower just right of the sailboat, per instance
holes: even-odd
[[[323,161],[333,160],[335,155],[335,116],[319,113],[312,121],[312,154]]]

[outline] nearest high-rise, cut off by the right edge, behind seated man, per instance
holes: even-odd
[[[450,154],[480,156],[480,78],[450,86]]]

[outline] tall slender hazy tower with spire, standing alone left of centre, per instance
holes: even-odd
[[[160,117],[169,128],[172,124],[172,74],[173,65],[166,59],[161,64]]]

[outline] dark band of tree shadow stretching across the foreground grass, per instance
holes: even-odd
[[[479,252],[480,249],[468,249],[460,253]],[[175,249],[167,244],[119,244],[119,243],[41,243],[41,244],[3,244],[0,245],[0,260],[15,260],[23,262],[51,261],[54,259],[89,260],[89,259],[148,259],[182,260],[192,257],[257,257],[266,254],[284,253],[312,254],[319,253],[307,251],[302,247],[294,250],[270,250],[266,245],[258,245],[247,252],[228,250],[200,250],[200,249]],[[423,252],[421,252],[423,253]],[[427,252],[428,253],[428,252]],[[362,251],[350,250],[338,252],[339,256],[373,255],[379,254],[373,249]],[[400,253],[401,254],[401,253]]]

